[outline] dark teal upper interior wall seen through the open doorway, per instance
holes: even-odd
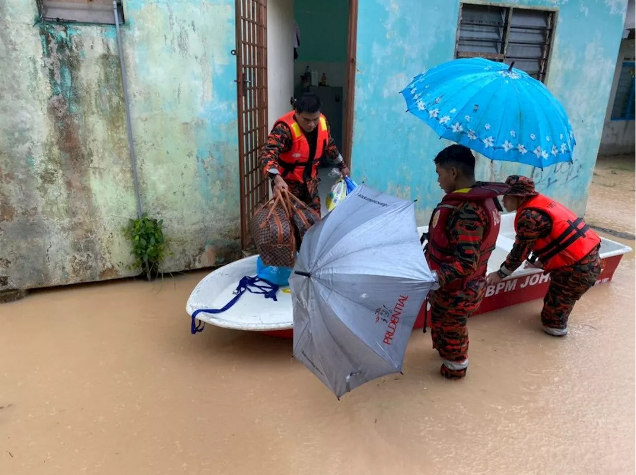
[[[295,0],[294,19],[300,29],[299,62],[347,60],[348,0]]]

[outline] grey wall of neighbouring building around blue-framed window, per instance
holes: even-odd
[[[634,39],[624,39],[621,42],[616,70],[614,71],[614,81],[612,82],[612,90],[605,114],[603,136],[598,149],[598,153],[601,155],[621,155],[636,152],[636,120],[612,121],[612,109],[616,99],[619,74],[625,61],[636,62],[636,40]]]

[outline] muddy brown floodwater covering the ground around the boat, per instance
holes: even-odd
[[[0,474],[636,473],[633,255],[567,337],[541,331],[540,300],[477,316],[451,382],[415,331],[403,376],[340,402],[289,340],[190,335],[204,275],[0,305]]]

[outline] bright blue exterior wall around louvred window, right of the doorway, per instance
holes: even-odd
[[[573,164],[557,164],[543,172],[481,158],[478,178],[532,175],[540,191],[582,215],[627,2],[488,3],[558,8],[547,85],[567,110],[577,146]],[[432,159],[449,142],[438,140],[428,126],[405,113],[398,92],[413,76],[453,58],[458,15],[458,0],[369,0],[359,7],[353,174],[378,189],[417,198],[420,222],[427,220],[442,195]]]

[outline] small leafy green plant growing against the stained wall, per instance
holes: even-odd
[[[149,218],[148,213],[144,213],[141,218],[131,219],[123,232],[132,244],[135,265],[141,267],[147,280],[156,278],[165,256],[163,220]]]

